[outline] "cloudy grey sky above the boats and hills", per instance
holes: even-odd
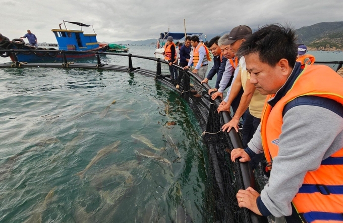
[[[98,41],[143,40],[157,38],[168,25],[170,32],[184,32],[184,19],[187,32],[219,34],[238,25],[254,30],[269,23],[301,28],[343,21],[342,9],[342,0],[1,0],[0,33],[13,39],[30,29],[38,42],[56,42],[51,29],[65,20],[93,25]]]

